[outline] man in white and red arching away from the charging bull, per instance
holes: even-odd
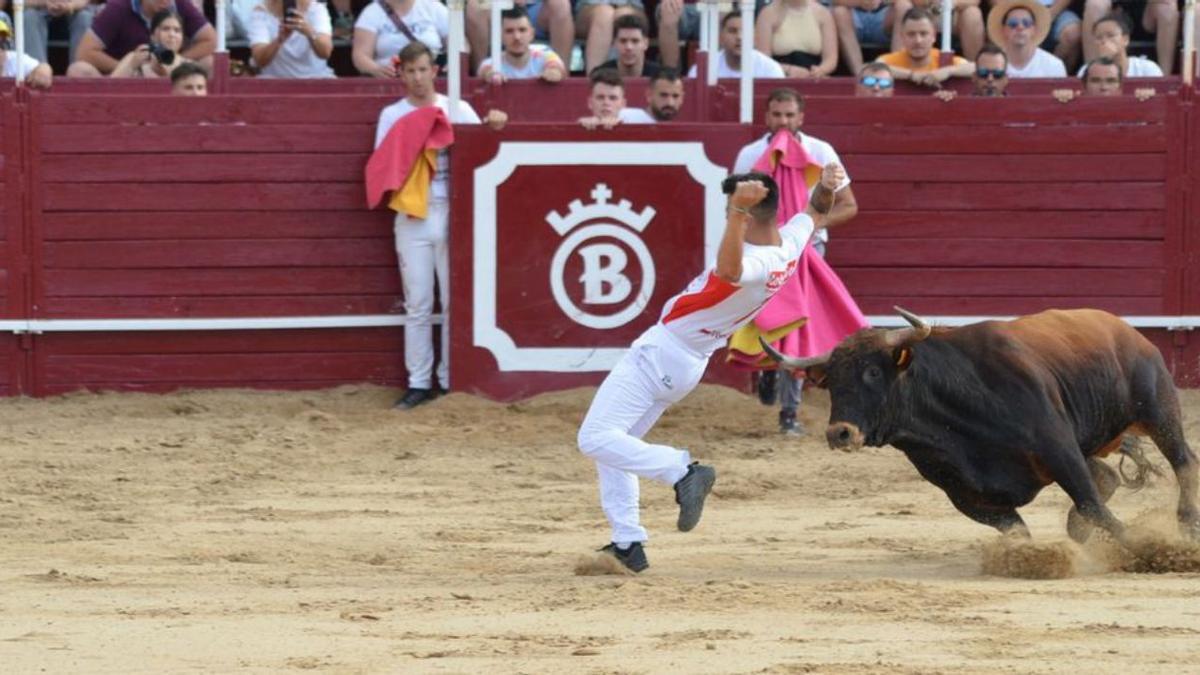
[[[754,319],[796,271],[816,227],[814,216],[828,213],[841,180],[841,167],[827,165],[809,211],[780,228],[779,187],[770,177],[725,179],[721,189],[730,198],[716,264],[667,300],[659,322],[634,341],[596,390],[578,444],[596,462],[600,503],[612,526],[612,543],[601,550],[626,568],[649,567],[642,546],[647,533],[638,519],[640,477],[674,486],[683,532],[700,522],[716,480],[716,471],[692,462],[688,450],[647,443],[642,436],[700,383],[713,352]]]

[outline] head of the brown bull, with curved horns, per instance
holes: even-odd
[[[912,365],[912,347],[931,328],[917,315],[895,309],[910,324],[893,330],[860,330],[833,352],[810,358],[785,357],[763,341],[770,358],[791,370],[804,370],[817,387],[829,389],[826,440],[839,450],[882,446],[886,400],[892,384]]]

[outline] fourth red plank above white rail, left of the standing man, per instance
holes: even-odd
[[[394,213],[374,211],[54,211],[47,241],[104,239],[380,238],[391,240]]]

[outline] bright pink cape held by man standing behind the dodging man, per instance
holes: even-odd
[[[804,213],[809,205],[809,189],[821,179],[821,166],[809,157],[796,135],[787,132],[779,132],[770,139],[754,169],[769,174],[779,184],[780,223]],[[775,344],[775,348],[790,357],[823,354],[847,335],[868,327],[858,304],[824,258],[812,250],[811,241],[800,256],[796,274],[758,312],[755,324],[767,331],[800,317],[808,317],[808,323]],[[745,363],[742,358],[736,360]]]

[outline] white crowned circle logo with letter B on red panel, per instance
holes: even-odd
[[[546,222],[556,232],[562,235],[570,232],[570,235],[559,244],[551,261],[551,292],[563,313],[571,321],[588,328],[607,329],[629,323],[646,309],[650,295],[654,294],[654,259],[638,233],[646,229],[655,211],[652,207],[646,207],[642,213],[637,213],[630,208],[626,199],[622,199],[618,204],[610,204],[610,197],[612,197],[612,191],[601,183],[592,190],[594,203],[583,205],[576,199],[570,203],[570,210],[565,216],[560,216],[557,211],[546,215]],[[600,219],[616,222],[594,222],[575,229],[582,222]],[[622,227],[619,223],[626,227]],[[572,229],[574,232],[571,232]],[[610,241],[588,243],[599,238],[616,239],[634,252],[637,264],[642,268],[640,288],[635,289],[634,282],[625,274],[630,263],[625,249]],[[611,307],[626,303],[624,307],[614,313],[595,315],[580,309],[571,300],[566,292],[568,280],[564,279],[564,275],[566,263],[575,252],[578,252],[583,262],[583,273],[577,279],[583,287],[583,304]]]

